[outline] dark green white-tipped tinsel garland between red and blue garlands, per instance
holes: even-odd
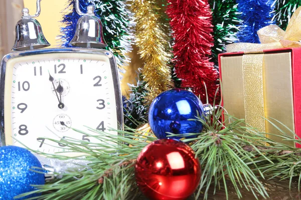
[[[236,41],[239,19],[236,0],[209,0],[213,13],[214,46],[212,61],[218,67],[218,54],[226,52],[226,45]]]

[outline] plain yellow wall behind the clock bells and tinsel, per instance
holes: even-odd
[[[29,8],[30,14],[36,13],[36,0],[24,0],[24,6]],[[41,23],[43,33],[51,44],[50,47],[57,47],[60,44],[58,35],[60,35],[60,27],[62,23],[63,12],[68,12],[65,8],[67,7],[67,0],[41,0],[41,14],[37,17],[37,20]],[[123,94],[128,93],[127,83],[134,83],[136,70],[141,67],[141,61],[137,56],[136,49],[134,49],[129,56],[132,62],[126,68],[126,74],[121,83],[121,90]]]

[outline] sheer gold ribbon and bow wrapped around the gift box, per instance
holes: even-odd
[[[241,52],[243,91],[246,123],[261,132],[265,131],[263,96],[263,52],[265,49],[301,47],[301,6],[291,16],[286,31],[276,25],[268,25],[257,31],[258,43],[233,43],[227,45],[227,52]],[[252,54],[250,54],[252,53]]]

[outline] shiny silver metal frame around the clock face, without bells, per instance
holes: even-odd
[[[114,93],[116,101],[116,115],[118,129],[123,129],[123,108],[122,108],[122,96],[119,83],[119,74],[117,70],[116,60],[114,55],[104,49],[93,49],[93,48],[45,48],[45,49],[34,49],[26,51],[16,51],[5,55],[0,64],[0,146],[6,145],[5,140],[5,117],[4,117],[4,92],[5,92],[5,77],[6,77],[6,66],[10,59],[17,57],[24,57],[30,55],[39,54],[50,54],[50,53],[87,53],[96,55],[105,55],[108,57],[111,67],[112,79],[114,82]]]

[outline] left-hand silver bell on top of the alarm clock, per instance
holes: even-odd
[[[35,15],[30,15],[28,8],[22,9],[23,16],[16,25],[16,40],[12,50],[28,50],[50,46],[42,32],[41,24],[33,18],[41,13],[40,1],[37,0],[37,12]]]

